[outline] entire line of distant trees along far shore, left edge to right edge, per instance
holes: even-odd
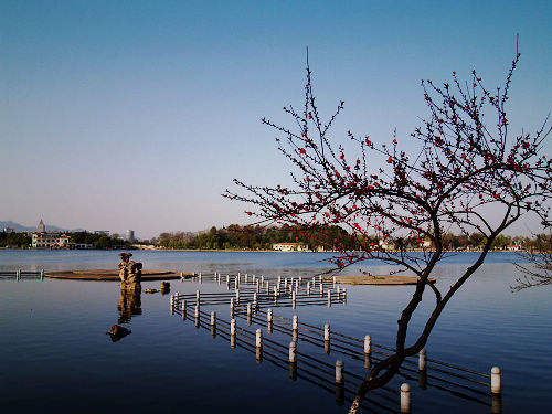
[[[66,233],[71,243],[85,243],[95,248],[130,248],[131,243],[124,241],[118,234],[73,232]],[[136,241],[135,241],[136,242]],[[212,226],[209,231],[171,232],[161,233],[157,240],[152,240],[163,248],[189,248],[189,250],[273,250],[277,243],[297,243],[301,247],[326,251],[338,248],[361,250],[365,244],[378,246],[380,238],[355,237],[337,225],[320,226],[318,229],[301,230],[287,224],[282,226],[238,225],[216,229]],[[149,244],[142,241],[141,244]],[[396,248],[420,248],[423,241],[393,238],[392,244]],[[448,251],[477,250],[485,244],[481,233],[459,234],[446,233],[444,236],[445,248]],[[31,236],[26,232],[0,232],[0,247],[28,247],[31,245]],[[524,251],[550,251],[552,238],[546,234],[537,234],[533,237],[499,235],[492,243],[493,250],[507,250],[507,246],[519,245]]]

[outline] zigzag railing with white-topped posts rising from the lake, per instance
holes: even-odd
[[[357,390],[365,378],[365,370],[373,363],[382,361],[394,352],[386,347],[372,341],[370,336],[353,338],[323,327],[299,322],[298,317],[286,318],[276,315],[274,307],[328,305],[346,302],[347,290],[336,285],[333,289],[325,290],[325,280],[321,277],[305,279],[266,279],[238,274],[230,275],[197,275],[201,283],[213,282],[229,287],[233,293],[201,293],[174,294],[170,297],[170,311],[182,317],[182,320],[193,321],[197,328],[211,331],[214,337],[220,336],[231,343],[232,348],[241,348],[255,354],[257,362],[263,360],[285,369],[291,380],[302,379],[319,388],[335,393],[336,402],[342,405],[352,402]],[[273,283],[273,289],[267,288]],[[291,286],[291,288],[289,288]],[[262,289],[264,288],[264,291]],[[268,291],[268,293],[267,293]],[[315,294],[316,291],[316,294]],[[210,314],[202,310],[203,306],[230,306],[230,320],[220,318],[215,311]],[[245,321],[247,327],[238,325]],[[258,326],[255,331],[250,329]],[[263,329],[262,329],[263,328]],[[266,335],[264,335],[266,330]],[[274,332],[288,335],[289,343],[282,343],[268,338]],[[323,354],[338,354],[340,359],[335,364],[301,352],[300,343],[320,348]],[[344,369],[347,362],[348,369]],[[359,368],[364,369],[364,372]],[[422,390],[432,388],[447,392],[456,397],[469,400],[477,404],[489,406],[491,413],[501,412],[500,370],[493,367],[491,373],[480,373],[475,370],[458,367],[452,363],[429,359],[423,350],[417,358],[407,358],[399,371],[399,375],[407,381],[418,383]],[[410,384],[404,383],[401,390],[383,386],[373,390],[364,399],[362,407],[365,412],[382,411],[401,413],[411,411]]]

